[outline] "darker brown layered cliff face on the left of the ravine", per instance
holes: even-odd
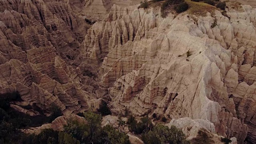
[[[30,115],[38,112],[26,106],[47,114],[55,103],[67,115],[94,108],[94,80],[70,66],[89,25],[69,3],[2,0],[0,12],[0,93],[17,90],[23,100],[12,107]]]

